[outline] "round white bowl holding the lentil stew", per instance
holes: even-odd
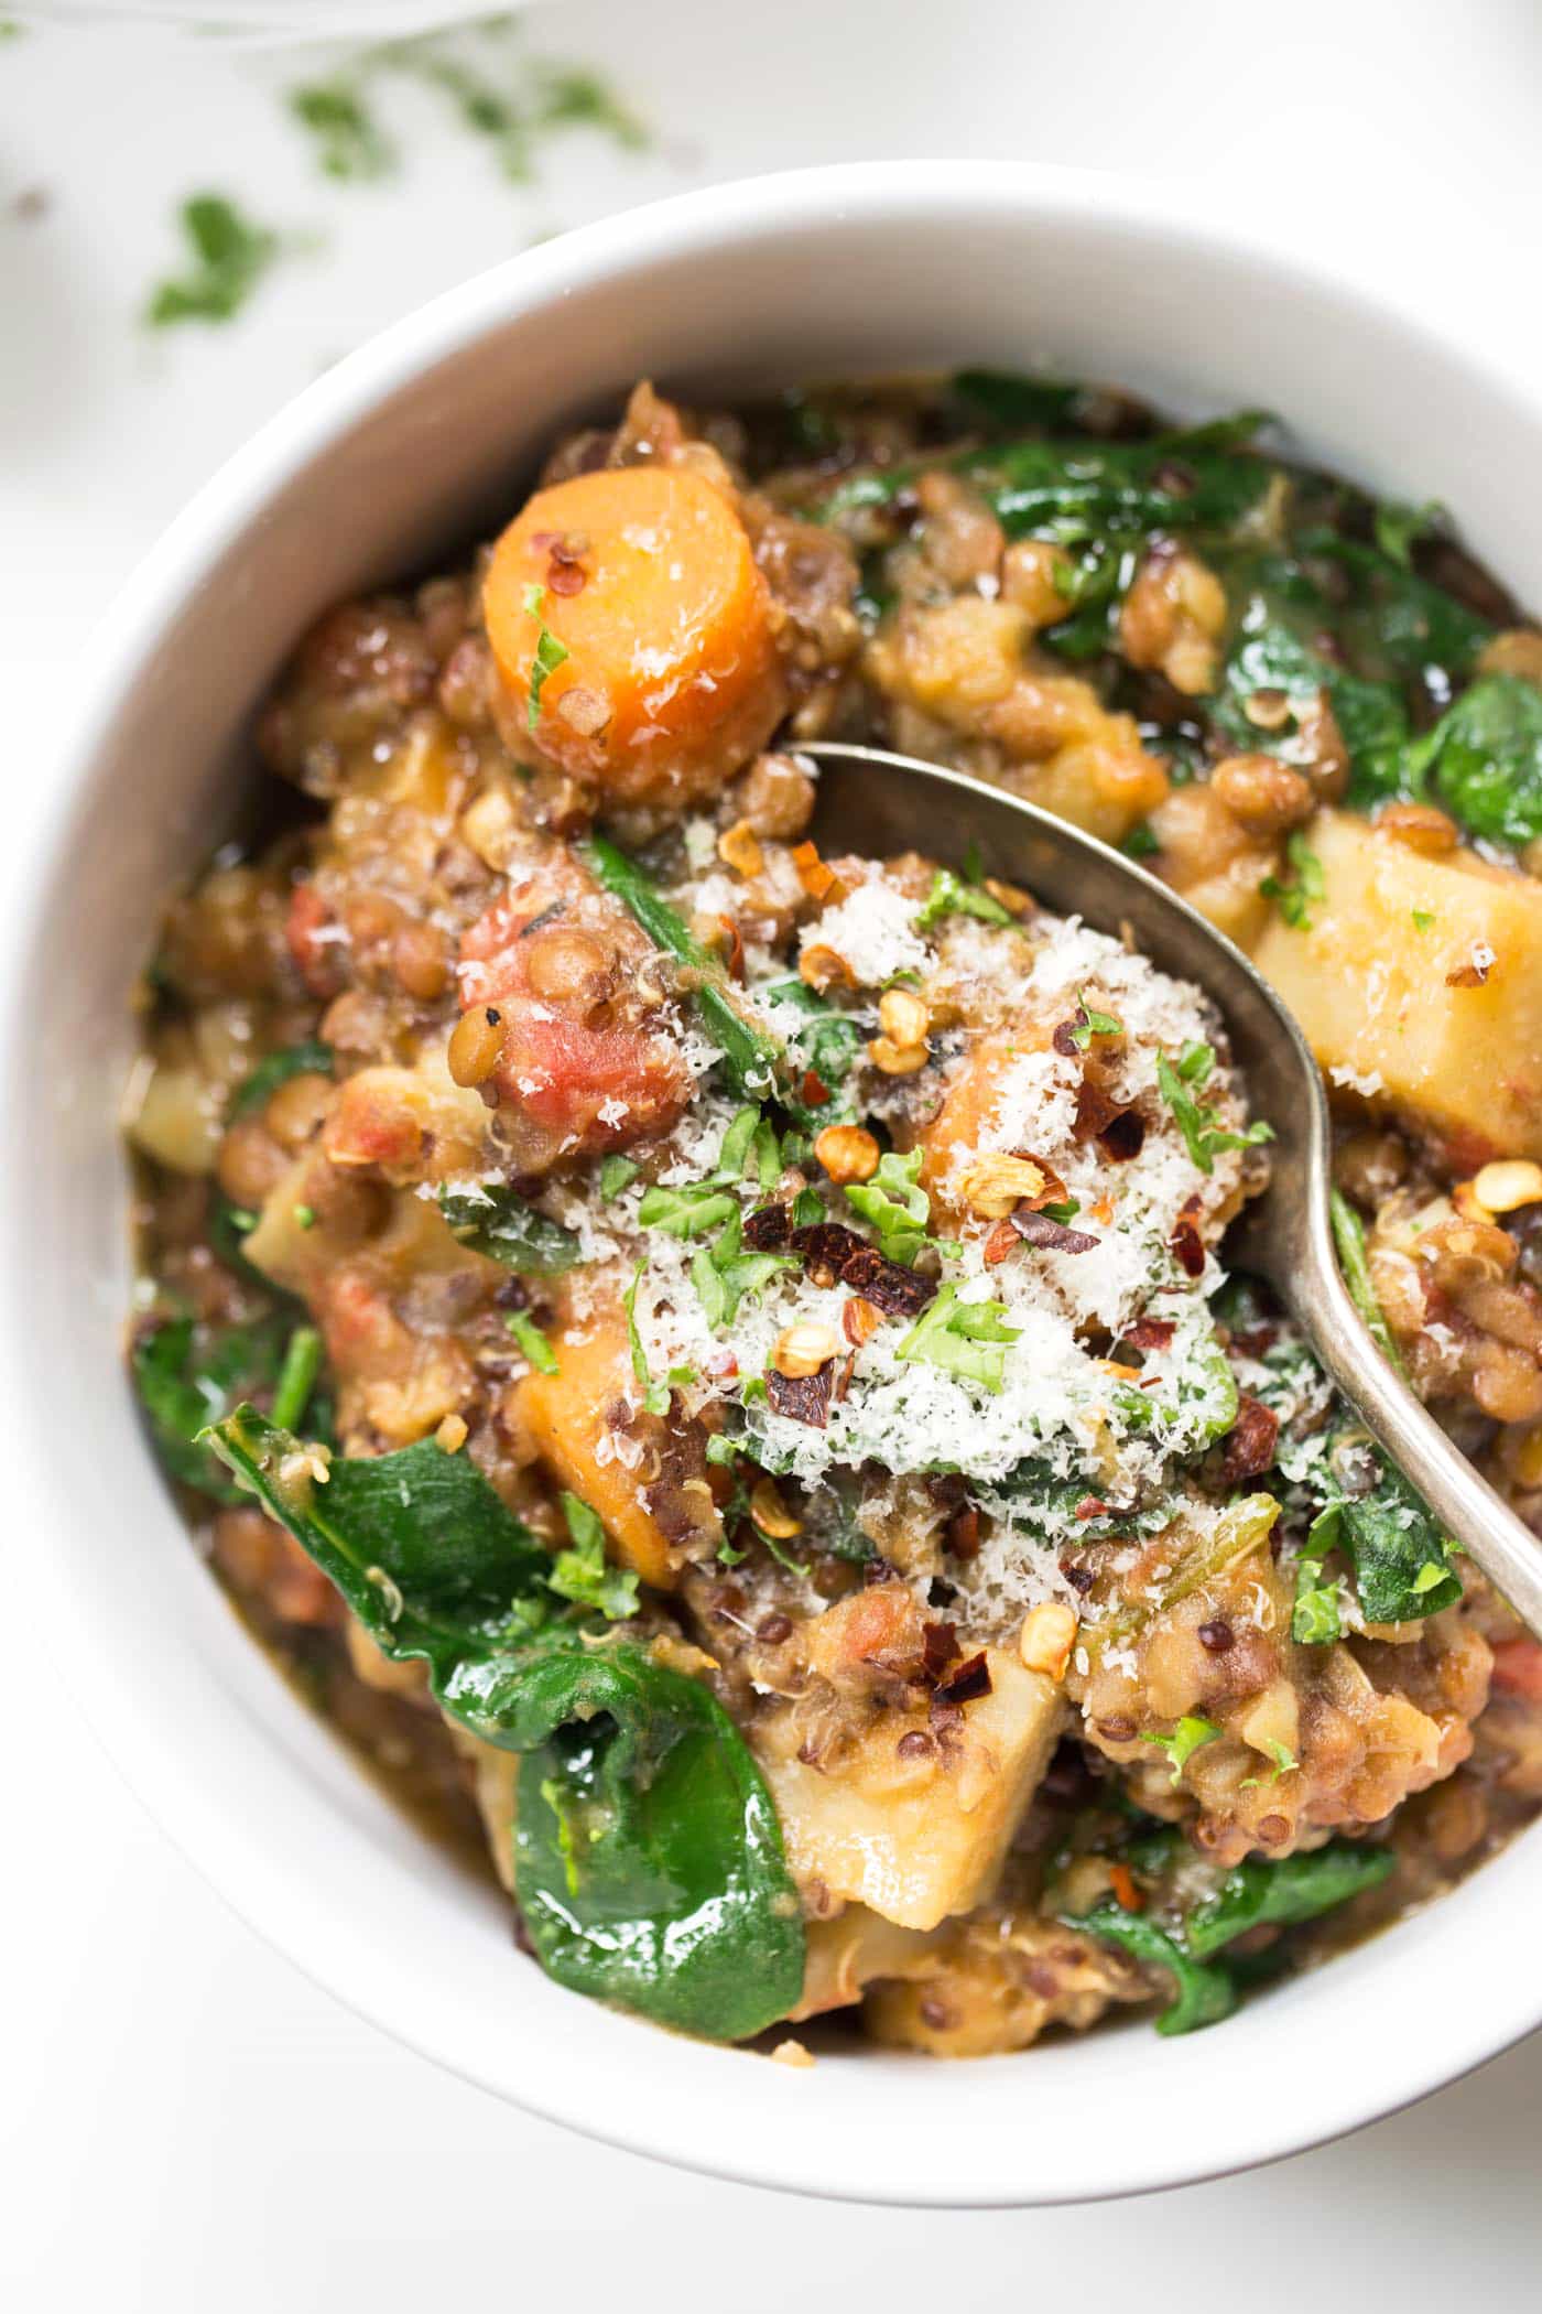
[[[1329,264],[1105,176],[904,162],[698,192],[439,299],[197,498],[90,655],[5,974],[12,1534],[25,1527],[42,1627],[129,1782],[254,1928],[458,2073],[703,2171],[936,2205],[1181,2184],[1491,2057],[1542,2018],[1542,1833],[1181,2041],[1135,2022],[980,2064],[851,2050],[793,2071],[562,1992],[513,1951],[502,1900],[280,1685],[194,1560],[120,1372],[113,1106],[157,902],[224,828],[243,720],[319,609],[495,530],[543,444],[638,375],[733,391],[957,361],[1281,410],[1309,454],[1445,500],[1542,602],[1524,488],[1542,405]]]

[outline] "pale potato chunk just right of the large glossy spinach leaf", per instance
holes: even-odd
[[[899,1928],[936,1928],[989,1895],[1024,1807],[1061,1729],[1061,1689],[987,1650],[992,1692],[964,1705],[943,1752],[899,1752],[927,1715],[883,1712],[853,1752],[809,1768],[798,1722],[779,1712],[751,1729],[800,1884],[865,1904]]]

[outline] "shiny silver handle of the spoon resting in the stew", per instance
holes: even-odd
[[[1542,1536],[1514,1516],[1454,1446],[1440,1423],[1371,1344],[1334,1259],[1327,1215],[1311,1215],[1311,1252],[1276,1277],[1292,1317],[1311,1337],[1327,1375],[1424,1495],[1443,1530],[1500,1587],[1510,1606],[1542,1636]]]

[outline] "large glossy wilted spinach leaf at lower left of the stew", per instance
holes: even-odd
[[[453,1719],[525,1754],[516,1897],[557,1983],[721,2041],[786,2015],[798,1891],[761,1770],[707,1687],[557,1611],[543,1546],[465,1456],[425,1439],[333,1460],[319,1483],[254,1407],[213,1444],[386,1655],[425,1661]]]

